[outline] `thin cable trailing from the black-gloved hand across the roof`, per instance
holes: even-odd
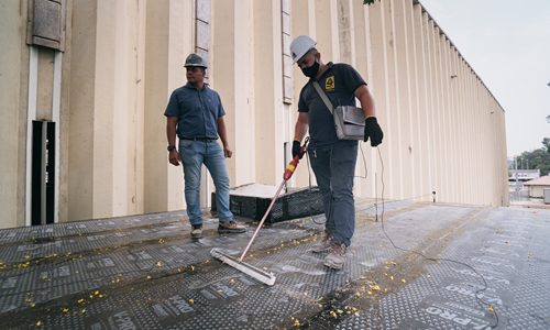
[[[450,262],[450,263],[455,263],[455,264],[459,264],[459,265],[462,265],[462,266],[465,266],[470,270],[472,270],[477,276],[480,276],[483,280],[483,288],[480,288],[477,289],[474,295],[475,295],[475,299],[477,300],[477,304],[483,308],[485,309],[485,306],[488,306],[488,307],[492,307],[491,304],[484,301],[482,298],[480,298],[477,295],[480,293],[483,293],[485,292],[487,288],[488,288],[488,285],[487,285],[487,282],[485,280],[485,277],[483,277],[482,274],[480,274],[473,266],[466,264],[466,263],[463,263],[463,262],[460,262],[460,261],[455,261],[455,260],[451,260],[451,258],[446,258],[446,257],[431,257],[431,256],[427,256],[425,255],[424,253],[421,252],[418,252],[418,251],[414,251],[414,250],[408,250],[408,249],[403,249],[400,246],[397,246],[394,241],[392,240],[392,238],[389,238],[389,235],[387,234],[386,232],[386,229],[384,228],[384,161],[382,160],[382,153],[380,151],[380,147],[376,146],[376,150],[378,151],[378,157],[380,157],[380,162],[381,162],[381,168],[382,168],[382,174],[381,174],[381,183],[382,183],[382,195],[381,195],[381,199],[382,199],[382,213],[381,213],[381,224],[382,224],[382,231],[384,232],[384,234],[386,235],[386,238],[388,239],[388,241],[392,243],[392,245],[397,249],[397,250],[400,250],[400,251],[404,251],[404,252],[410,252],[410,253],[414,253],[414,254],[417,254],[421,257],[424,257],[425,260],[428,260],[428,261],[432,261],[432,262]],[[378,221],[378,212],[376,211],[376,221]],[[496,314],[496,310],[494,307],[492,307],[491,311],[493,312],[493,315],[495,316],[495,319],[496,319],[496,323],[494,326],[491,326],[492,329],[495,329],[496,327],[498,327],[498,315]]]

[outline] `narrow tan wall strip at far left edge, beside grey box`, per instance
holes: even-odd
[[[29,51],[21,37],[25,15],[19,1],[2,1],[0,16],[0,228],[6,228],[23,226],[29,69],[22,68],[29,66]]]

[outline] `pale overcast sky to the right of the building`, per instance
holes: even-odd
[[[508,156],[550,138],[550,0],[420,0],[506,112]]]

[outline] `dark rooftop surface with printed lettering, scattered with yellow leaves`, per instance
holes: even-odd
[[[246,219],[199,241],[184,212],[0,230],[0,328],[550,329],[550,210],[355,207],[338,272],[308,251],[322,216],[263,228],[245,262],[271,287],[210,256],[242,251]]]

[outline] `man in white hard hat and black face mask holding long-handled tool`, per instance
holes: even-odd
[[[327,218],[323,237],[311,251],[329,252],[324,257],[324,265],[340,270],[355,230],[352,189],[358,141],[338,139],[332,113],[312,82],[319,82],[334,106],[355,106],[355,98],[359,99],[366,118],[365,142],[370,139],[371,145],[376,146],[382,143],[384,134],[376,121],[374,99],[361,75],[348,64],[322,63],[316,45],[307,35],[296,37],[290,44],[294,63],[309,78],[299,96],[293,157],[299,153],[300,142],[309,131],[308,155],[322,194]]]

